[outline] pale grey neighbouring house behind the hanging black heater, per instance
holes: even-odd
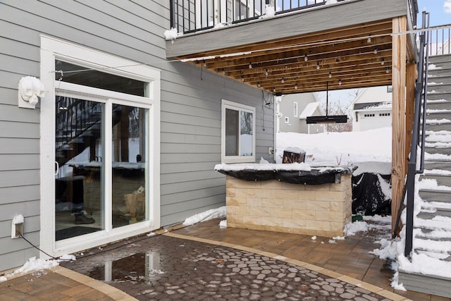
[[[323,125],[307,124],[306,121],[309,116],[325,115],[315,92],[288,94],[280,98],[276,106],[278,132],[302,134],[323,133]]]

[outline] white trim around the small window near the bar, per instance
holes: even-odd
[[[246,111],[254,114],[252,118],[252,156],[226,156],[226,109],[233,109],[236,111]],[[247,106],[245,104],[239,104],[237,102],[230,102],[226,99],[222,99],[221,103],[221,162],[225,164],[229,163],[248,163],[255,162],[255,107]]]

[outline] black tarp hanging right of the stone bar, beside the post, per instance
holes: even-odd
[[[390,215],[391,198],[383,193],[382,185],[390,185],[391,176],[377,173],[361,173],[352,176],[352,214]]]

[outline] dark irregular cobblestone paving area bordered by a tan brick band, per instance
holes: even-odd
[[[388,300],[280,260],[164,235],[77,257],[61,265],[139,300]]]

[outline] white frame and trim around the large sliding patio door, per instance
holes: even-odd
[[[55,80],[55,59],[69,61],[92,68],[103,68],[104,72],[119,76],[133,78],[149,82],[149,95],[136,97],[119,92],[99,90],[92,87],[80,89],[80,85]],[[72,252],[78,252],[97,245],[128,238],[152,231],[160,227],[160,70],[142,65],[135,61],[122,59],[101,51],[82,47],[78,44],[65,42],[61,39],[41,35],[41,81],[46,89],[45,97],[40,103],[40,233],[39,244],[42,250],[52,256],[60,256]],[[70,89],[75,93],[94,93],[97,97],[103,97],[105,102],[117,102],[116,99],[126,99],[126,104],[133,103],[149,109],[149,221],[132,225],[98,231],[82,238],[71,238],[70,243],[55,242],[55,207],[54,207],[54,102],[56,89]],[[99,92],[97,94],[96,92]],[[124,104],[125,104],[124,103]],[[106,131],[107,133],[109,131]],[[42,253],[41,253],[42,254]],[[42,257],[45,257],[42,254]]]

